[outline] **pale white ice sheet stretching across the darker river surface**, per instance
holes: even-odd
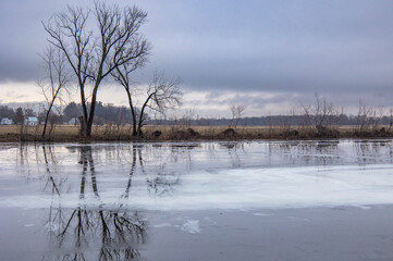
[[[250,210],[386,204],[393,203],[392,171],[392,164],[197,171],[184,175],[181,185],[162,197],[149,194],[146,185],[138,183],[127,198],[121,197],[122,189],[107,187],[99,197],[88,194],[83,199],[77,192],[1,197],[0,207]]]

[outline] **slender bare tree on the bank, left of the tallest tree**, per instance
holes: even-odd
[[[69,84],[69,75],[65,69],[65,58],[59,49],[49,47],[41,55],[45,67],[46,78],[37,83],[41,89],[46,104],[45,110],[45,123],[41,137],[44,138],[47,132],[48,121],[51,115],[54,102],[61,99],[61,91],[65,90]]]

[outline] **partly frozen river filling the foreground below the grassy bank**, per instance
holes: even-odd
[[[392,140],[0,146],[0,260],[392,260]]]

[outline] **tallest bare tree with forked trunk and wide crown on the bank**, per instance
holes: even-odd
[[[98,1],[93,11],[69,7],[44,24],[49,42],[64,53],[77,80],[83,109],[82,135],[91,135],[102,80],[116,67],[148,53],[150,45],[138,33],[146,17],[147,13],[136,7],[119,8]],[[96,28],[89,28],[90,24]]]

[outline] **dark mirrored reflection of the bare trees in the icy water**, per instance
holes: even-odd
[[[50,149],[48,150],[44,146],[42,152],[52,195],[61,197],[59,185],[52,177],[49,167]],[[133,152],[128,181],[125,191],[120,198],[128,198],[135,163],[136,152]],[[79,164],[82,165],[82,173],[78,206],[75,209],[67,209],[61,207],[60,200],[58,206],[53,206],[52,202],[47,224],[50,238],[59,251],[74,250],[71,253],[44,257],[42,260],[89,260],[91,257],[86,256],[85,251],[90,248],[98,248],[98,257],[95,258],[98,260],[133,260],[138,258],[137,246],[144,244],[146,239],[146,222],[137,211],[127,211],[124,202],[119,202],[116,206],[98,204],[98,207],[91,207],[87,204],[85,199],[89,185],[95,200],[100,201],[90,146],[79,148]],[[88,181],[90,182],[88,183]]]

